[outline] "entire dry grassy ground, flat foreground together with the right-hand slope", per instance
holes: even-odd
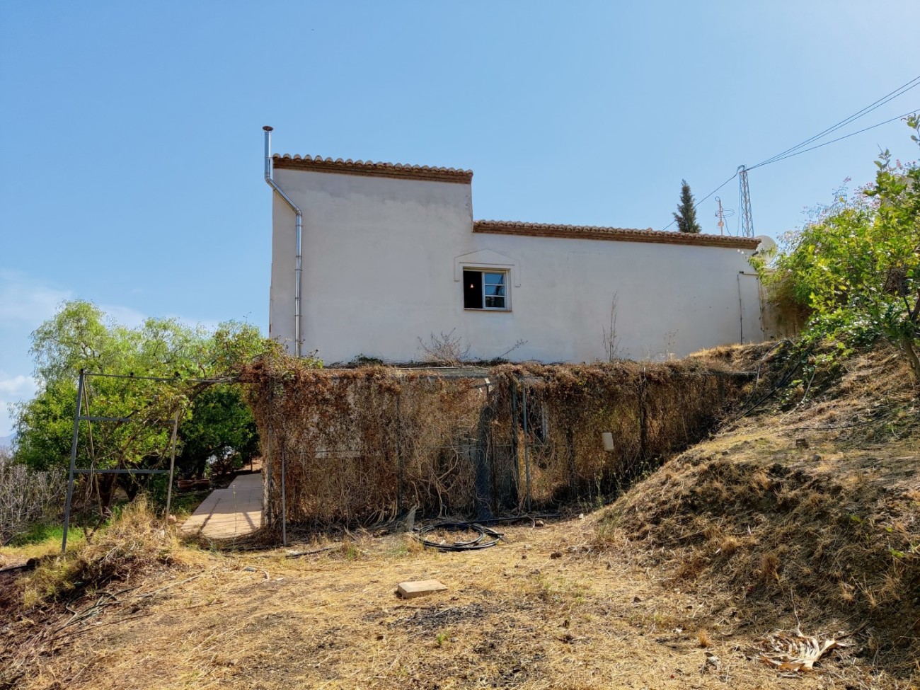
[[[501,525],[481,551],[176,546],[171,565],[25,611],[20,576],[0,573],[0,690],[917,687],[920,402],[904,382],[895,356],[854,360],[612,505]],[[448,589],[397,597],[425,579]],[[797,628],[842,646],[809,673],[765,663]]]

